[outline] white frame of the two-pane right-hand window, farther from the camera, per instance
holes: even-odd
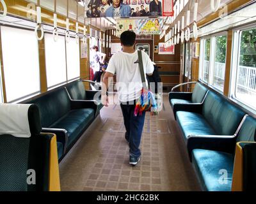
[[[199,60],[199,64],[200,64],[200,68],[199,68],[199,80],[201,82],[203,82],[204,84],[208,85],[209,87],[211,87],[212,89],[214,89],[217,92],[220,92],[221,94],[223,94],[224,92],[224,87],[223,90],[218,89],[218,87],[216,87],[214,85],[214,70],[215,70],[215,59],[216,59],[216,38],[220,37],[220,36],[227,36],[228,38],[228,32],[227,31],[223,31],[220,33],[214,33],[211,34],[209,36],[204,36],[203,38],[201,38],[200,40],[200,60]],[[205,41],[206,40],[211,40],[210,43],[210,59],[209,59],[209,76],[208,76],[208,82],[205,82],[204,80],[204,58],[205,58]],[[202,57],[201,57],[202,56]],[[226,47],[226,59],[225,59],[225,64],[227,63],[227,47]],[[225,67],[226,70],[226,67]],[[226,79],[224,78],[224,81]]]

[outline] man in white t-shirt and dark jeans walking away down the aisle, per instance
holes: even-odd
[[[123,50],[111,57],[102,84],[102,104],[108,106],[108,96],[106,95],[106,89],[109,85],[108,80],[113,78],[113,75],[116,73],[116,87],[126,129],[125,139],[130,147],[129,163],[132,165],[136,165],[140,161],[140,142],[145,121],[145,112],[137,117],[134,116],[136,101],[140,98],[143,87],[138,52],[134,49],[135,39],[136,34],[132,31],[125,31],[121,34],[120,40]],[[154,65],[143,51],[142,59],[146,78],[146,74],[152,75]]]

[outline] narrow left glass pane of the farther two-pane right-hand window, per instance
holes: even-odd
[[[211,54],[211,39],[204,40],[204,61],[203,61],[203,75],[202,80],[209,82],[209,68],[210,68],[210,54]]]

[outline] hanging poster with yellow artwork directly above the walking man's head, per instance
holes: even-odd
[[[117,34],[134,31],[136,34],[160,34],[163,19],[116,20]]]

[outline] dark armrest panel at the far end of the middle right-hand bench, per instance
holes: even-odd
[[[178,111],[186,111],[192,113],[202,113],[203,105],[201,103],[175,103],[173,105],[173,114],[176,119],[176,113]]]

